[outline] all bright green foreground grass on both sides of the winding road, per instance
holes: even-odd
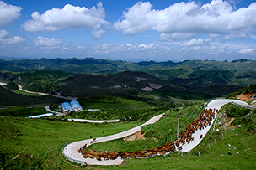
[[[110,106],[117,104],[115,109],[122,110],[125,107],[115,100],[104,99],[95,101],[102,103],[102,108],[110,110]],[[87,104],[89,103],[88,101]],[[92,100],[91,106],[95,102]],[[121,101],[120,101],[121,102]],[[122,100],[123,103],[135,101]],[[125,104],[125,105],[126,105]],[[140,108],[134,104],[134,110]],[[165,142],[171,142],[177,135],[177,119],[179,132],[184,131],[203,109],[204,103],[197,103],[184,108],[173,108],[166,111],[165,116],[155,124],[144,126],[141,129],[145,133],[146,140],[124,141],[118,139],[110,142],[93,144],[89,150],[96,152],[128,152],[158,147]],[[120,105],[120,106],[118,106]],[[90,106],[90,105],[88,105]],[[131,105],[132,108],[133,105]],[[143,108],[144,107],[144,108]],[[141,105],[141,111],[152,109],[147,104]],[[9,108],[12,109],[12,108]],[[26,108],[32,109],[32,108]],[[40,110],[40,107],[38,108]],[[124,109],[125,110],[125,109]],[[1,110],[4,111],[4,110]],[[7,111],[7,110],[6,110]],[[14,111],[13,111],[14,112]],[[21,111],[23,112],[23,111]],[[15,112],[14,112],[15,113]],[[155,114],[160,113],[156,111]],[[213,127],[205,136],[199,146],[191,152],[171,153],[165,157],[149,157],[147,159],[128,158],[120,166],[88,166],[88,169],[253,169],[255,167],[256,142],[255,126],[256,111],[240,108],[229,104],[222,107],[219,115],[225,113],[227,121],[235,117],[230,126],[222,126],[225,119],[218,117],[215,129]],[[249,113],[249,114],[248,114]],[[149,116],[151,118],[152,116]],[[64,118],[64,117],[63,117]],[[113,135],[121,131],[139,126],[145,121],[122,121],[119,123],[91,124],[73,121],[61,121],[59,119],[26,119],[24,114],[19,116],[0,117],[0,168],[3,169],[80,169],[79,164],[69,162],[61,154],[61,148],[67,142],[76,142],[92,137]],[[219,125],[219,122],[220,125]],[[237,127],[240,125],[241,128]],[[232,126],[232,128],[230,128]],[[103,133],[104,131],[104,133]],[[231,147],[228,147],[228,144]],[[200,152],[200,157],[199,157]]]

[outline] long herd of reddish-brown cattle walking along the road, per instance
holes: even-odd
[[[192,134],[195,133],[195,131],[200,131],[204,129],[206,126],[211,125],[211,121],[215,118],[215,112],[217,110],[203,110],[200,115],[193,121],[184,131],[182,131],[177,139],[175,139],[173,142],[168,142],[163,146],[147,149],[145,151],[136,151],[136,152],[106,152],[106,153],[97,153],[97,152],[86,152],[87,144],[85,144],[83,147],[78,149],[78,152],[83,155],[84,158],[96,158],[99,161],[102,160],[109,160],[109,159],[116,159],[117,157],[121,157],[122,159],[125,159],[127,157],[137,157],[137,158],[146,158],[146,157],[152,157],[155,155],[165,155],[170,152],[174,151],[180,151],[182,150],[182,146],[187,142],[192,142],[194,140],[194,137],[192,137]],[[203,135],[200,135],[200,139],[203,137]],[[91,144],[96,141],[96,138],[91,141]]]

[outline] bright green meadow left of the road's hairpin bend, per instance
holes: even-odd
[[[40,169],[62,168],[58,162],[66,164],[61,155],[61,147],[65,143],[88,139],[90,136],[113,135],[138,125],[140,124],[137,122],[89,124],[45,119],[33,120],[23,117],[1,117],[0,155],[2,158],[0,166],[3,167],[21,152],[18,158],[8,163],[7,169],[21,169],[21,167],[35,169],[35,164]],[[24,152],[22,152],[23,150]],[[53,155],[54,159],[51,158]],[[69,164],[67,163],[67,165]]]

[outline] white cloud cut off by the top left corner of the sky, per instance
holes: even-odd
[[[0,26],[12,23],[14,19],[19,18],[21,7],[8,5],[0,1]]]

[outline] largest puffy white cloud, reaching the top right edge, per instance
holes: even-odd
[[[128,8],[113,27],[131,35],[149,29],[159,33],[241,34],[256,28],[255,16],[256,3],[235,10],[231,3],[222,0],[212,0],[202,6],[189,1],[155,10],[149,2],[139,2]],[[172,34],[168,36],[172,38]]]

